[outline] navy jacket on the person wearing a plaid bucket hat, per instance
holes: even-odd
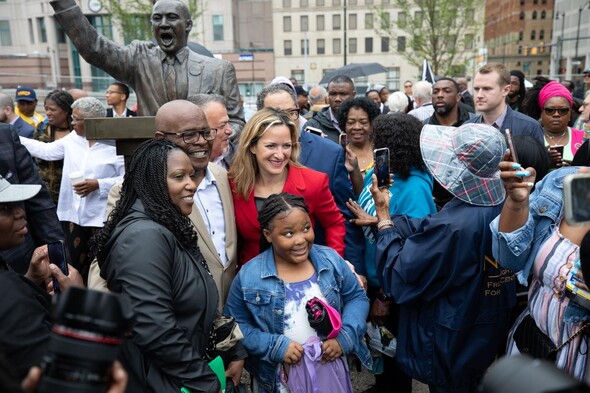
[[[489,228],[501,209],[455,198],[378,232],[377,275],[400,304],[396,359],[412,378],[472,388],[506,341],[516,280],[493,259]]]

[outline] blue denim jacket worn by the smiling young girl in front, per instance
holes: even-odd
[[[342,316],[336,340],[344,354],[354,353],[371,368],[364,341],[369,299],[344,260],[331,248],[313,245],[309,254],[318,284],[328,303]],[[244,334],[248,350],[246,369],[263,389],[275,391],[279,365],[290,339],[284,334],[285,285],[278,276],[272,248],[242,266],[232,283],[225,314],[233,316]]]

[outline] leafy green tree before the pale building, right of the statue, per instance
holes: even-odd
[[[373,7],[374,29],[410,64],[421,67],[426,59],[435,75],[454,76],[475,54],[483,26],[475,10],[483,7],[484,0],[391,0]]]

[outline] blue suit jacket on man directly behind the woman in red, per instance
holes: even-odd
[[[354,199],[354,196],[348,180],[348,172],[344,167],[344,149],[337,143],[305,131],[302,131],[299,136],[299,144],[301,147],[299,162],[328,175],[330,191],[345,220],[344,258],[354,265],[357,273],[365,275],[363,232],[360,227],[350,223],[350,219],[355,217],[346,207],[346,201],[349,198]],[[323,243],[323,228],[316,225],[315,229],[316,242]]]

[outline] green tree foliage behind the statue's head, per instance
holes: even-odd
[[[150,16],[156,0],[103,0],[105,9],[111,14],[113,23],[120,29],[126,44],[133,40],[152,39]],[[203,14],[199,0],[186,0],[193,29],[189,38],[197,39],[195,24]]]

